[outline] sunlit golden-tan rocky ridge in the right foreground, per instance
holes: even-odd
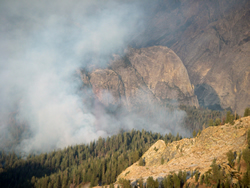
[[[165,144],[159,140],[142,156],[145,166],[139,166],[139,161],[123,171],[117,178],[134,182],[140,178],[144,181],[149,176],[154,179],[163,178],[179,170],[190,174],[199,171],[202,174],[211,169],[211,163],[216,159],[226,172],[233,174],[233,181],[239,172],[228,164],[226,153],[235,152],[237,157],[247,146],[247,131],[250,128],[250,117],[236,120],[234,125],[225,124],[217,127],[208,127],[195,138],[182,139]],[[164,164],[162,163],[164,160]]]

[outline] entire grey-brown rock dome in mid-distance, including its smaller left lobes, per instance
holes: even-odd
[[[122,104],[131,109],[157,101],[198,106],[185,66],[163,46],[129,49],[125,57],[116,56],[109,68],[82,72],[81,77],[106,106]]]

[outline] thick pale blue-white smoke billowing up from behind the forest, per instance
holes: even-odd
[[[96,126],[97,109],[87,102],[93,93],[82,92],[76,76],[79,68],[105,67],[122,53],[144,16],[132,1],[1,1],[0,149],[17,142],[16,151],[44,152],[121,128],[159,130],[140,116],[114,116],[101,107],[103,124]],[[19,140],[13,130],[22,133]]]

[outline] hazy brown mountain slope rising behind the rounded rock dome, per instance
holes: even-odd
[[[250,1],[170,1],[147,7],[137,48],[171,48],[187,68],[202,106],[243,114],[250,105]]]

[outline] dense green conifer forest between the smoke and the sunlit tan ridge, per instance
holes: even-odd
[[[99,138],[89,144],[69,146],[26,159],[12,153],[0,153],[0,187],[76,187],[108,185],[127,167],[138,161],[157,140],[166,143],[182,137],[161,135],[145,130]]]

